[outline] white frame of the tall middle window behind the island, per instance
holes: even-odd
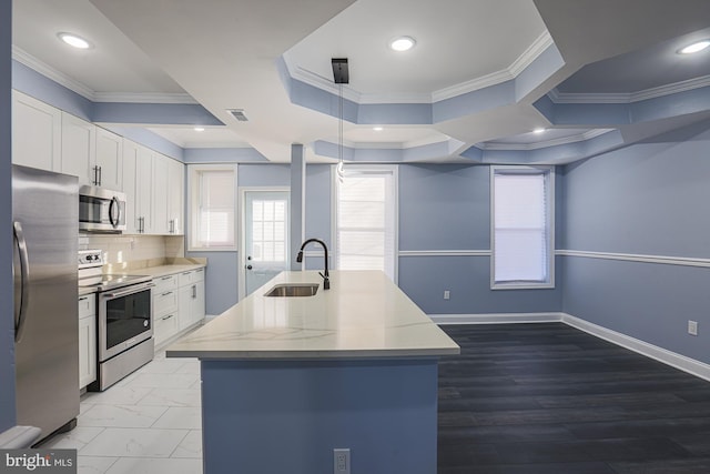
[[[337,269],[338,265],[338,248],[337,248],[337,229],[338,229],[338,174],[336,165],[331,167],[331,181],[332,181],[332,202],[331,202],[331,242],[333,246],[333,268]],[[399,279],[399,167],[394,164],[346,164],[345,172],[355,171],[361,173],[390,173],[393,178],[393,195],[394,195],[394,283],[396,284]]]

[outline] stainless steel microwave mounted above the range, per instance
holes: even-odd
[[[125,194],[104,188],[79,188],[79,230],[121,233],[125,230]]]

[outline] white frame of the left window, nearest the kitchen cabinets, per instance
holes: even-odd
[[[204,171],[231,171],[234,173],[234,244],[223,246],[195,245],[195,219],[199,215],[199,178]],[[239,249],[239,186],[236,164],[187,164],[187,251],[189,252],[236,252]]]

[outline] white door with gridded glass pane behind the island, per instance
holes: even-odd
[[[244,291],[250,295],[288,268],[288,192],[245,191]]]

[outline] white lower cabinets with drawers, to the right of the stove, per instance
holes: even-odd
[[[204,320],[204,269],[153,280],[153,337],[159,346]]]

